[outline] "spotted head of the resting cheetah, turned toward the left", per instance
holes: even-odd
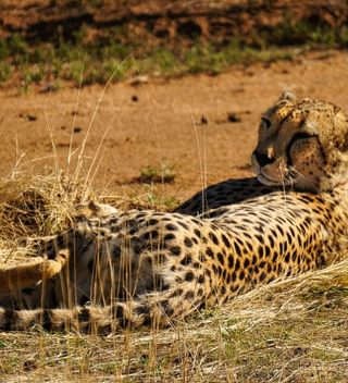
[[[320,193],[348,183],[348,118],[330,102],[285,92],[261,118],[251,158],[265,185]]]

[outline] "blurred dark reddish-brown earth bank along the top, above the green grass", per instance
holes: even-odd
[[[122,42],[146,39],[153,45],[164,41],[175,46],[203,38],[226,44],[232,36],[254,40],[258,34],[279,27],[284,35],[286,27],[298,24],[314,29],[343,28],[347,18],[348,3],[340,0],[3,0],[0,36],[18,33],[34,41],[58,41],[62,37],[76,38],[76,32],[84,26],[90,39],[102,39],[109,38],[116,27],[117,36],[113,37]],[[284,37],[285,44],[298,44],[300,34],[273,37],[270,34],[275,42]]]

